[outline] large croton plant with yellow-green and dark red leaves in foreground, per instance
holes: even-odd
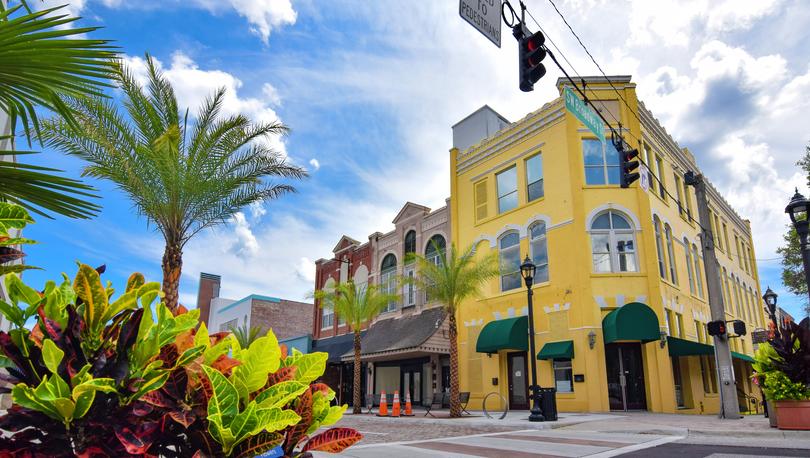
[[[6,275],[0,457],[301,457],[362,438],[319,432],[346,410],[315,382],[326,353],[287,354],[272,331],[241,348],[197,310],[171,313],[141,274],[114,299],[103,272],[80,264],[42,291]]]

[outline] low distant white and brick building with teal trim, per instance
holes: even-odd
[[[221,277],[200,274],[197,307],[200,320],[212,332],[247,325],[262,332],[273,329],[278,339],[308,335],[312,328],[313,305],[306,302],[251,294],[239,300],[219,296]]]

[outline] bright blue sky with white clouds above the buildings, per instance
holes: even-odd
[[[66,0],[47,0],[58,5]],[[517,6],[517,2],[513,2]],[[580,75],[598,70],[549,0],[526,0]],[[801,317],[775,253],[810,141],[810,5],[799,0],[555,0],[607,74],[632,75],[637,93],[704,174],[750,219],[761,287]],[[115,40],[142,74],[153,56],[191,112],[224,86],[224,111],[291,128],[274,145],[310,177],[298,192],[253,205],[184,250],[180,300],[196,305],[200,272],[222,276],[222,296],[300,300],[314,260],[343,234],[365,240],[393,228],[406,201],[438,208],[449,197],[451,126],[488,104],[518,120],[557,97],[556,68],[518,89],[517,46],[503,26],[497,48],[466,23],[456,0],[80,0],[68,9],[92,37]],[[530,18],[528,26],[537,30]],[[41,164],[78,177],[83,164],[44,150]],[[125,195],[103,196],[90,220],[38,218],[26,236],[33,285],[73,275],[76,261],[160,281],[163,240]]]

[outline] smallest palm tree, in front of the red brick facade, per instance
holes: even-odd
[[[376,285],[357,286],[353,281],[340,283],[334,290],[315,291],[315,299],[321,308],[329,307],[341,317],[354,333],[354,390],[352,412],[362,412],[360,397],[360,331],[365,323],[373,320],[389,302],[399,298],[396,294],[383,293]]]

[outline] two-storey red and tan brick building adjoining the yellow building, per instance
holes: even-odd
[[[431,211],[408,202],[392,222],[394,230],[375,232],[365,243],[341,237],[331,259],[316,261],[315,287],[329,289],[352,279],[357,285],[376,284],[400,295],[363,331],[362,391],[408,390],[414,404],[423,404],[448,386],[447,323],[439,304],[413,286],[400,286],[399,278],[416,274],[408,254],[436,262],[444,255],[450,236],[448,207]],[[329,353],[324,381],[338,392],[341,402],[350,402],[354,358],[350,330],[340,316],[319,304],[313,317],[312,349]]]

